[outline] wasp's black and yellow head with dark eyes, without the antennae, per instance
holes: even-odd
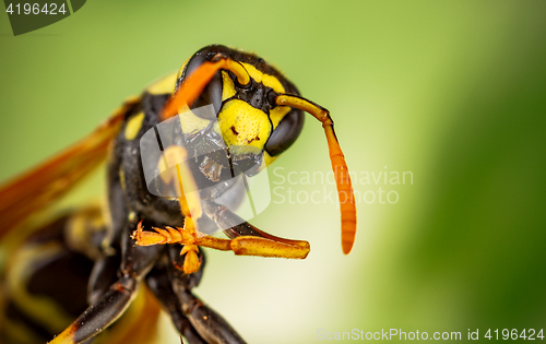
[[[305,118],[301,110],[275,103],[278,94],[299,95],[294,84],[263,59],[224,46],[195,52],[182,66],[175,92],[203,63],[222,58],[233,61],[230,68],[216,71],[189,108],[179,109],[182,131],[198,151],[227,150],[227,158],[202,156],[201,171],[213,181],[223,170],[252,175],[273,162],[296,141]]]

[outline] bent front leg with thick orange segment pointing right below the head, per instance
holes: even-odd
[[[309,242],[275,237],[252,226],[224,205],[203,200],[203,210],[232,239],[230,248],[238,256],[305,259]]]

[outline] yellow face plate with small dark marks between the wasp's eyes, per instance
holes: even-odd
[[[225,143],[238,146],[240,154],[262,150],[272,131],[268,115],[240,99],[224,105],[218,114],[218,124]]]

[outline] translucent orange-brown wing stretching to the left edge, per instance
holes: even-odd
[[[105,159],[124,114],[138,102],[126,102],[90,135],[0,187],[0,239],[97,167]]]

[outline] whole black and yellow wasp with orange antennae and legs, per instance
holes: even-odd
[[[107,343],[143,343],[163,309],[189,343],[245,343],[192,292],[206,261],[202,248],[307,257],[309,242],[270,235],[236,211],[252,193],[247,181],[296,141],[305,112],[325,132],[348,253],[356,209],[330,112],[256,55],[206,46],[82,141],[0,189],[9,252],[2,342],[90,343],[105,332]],[[106,205],[35,220],[105,157]]]

